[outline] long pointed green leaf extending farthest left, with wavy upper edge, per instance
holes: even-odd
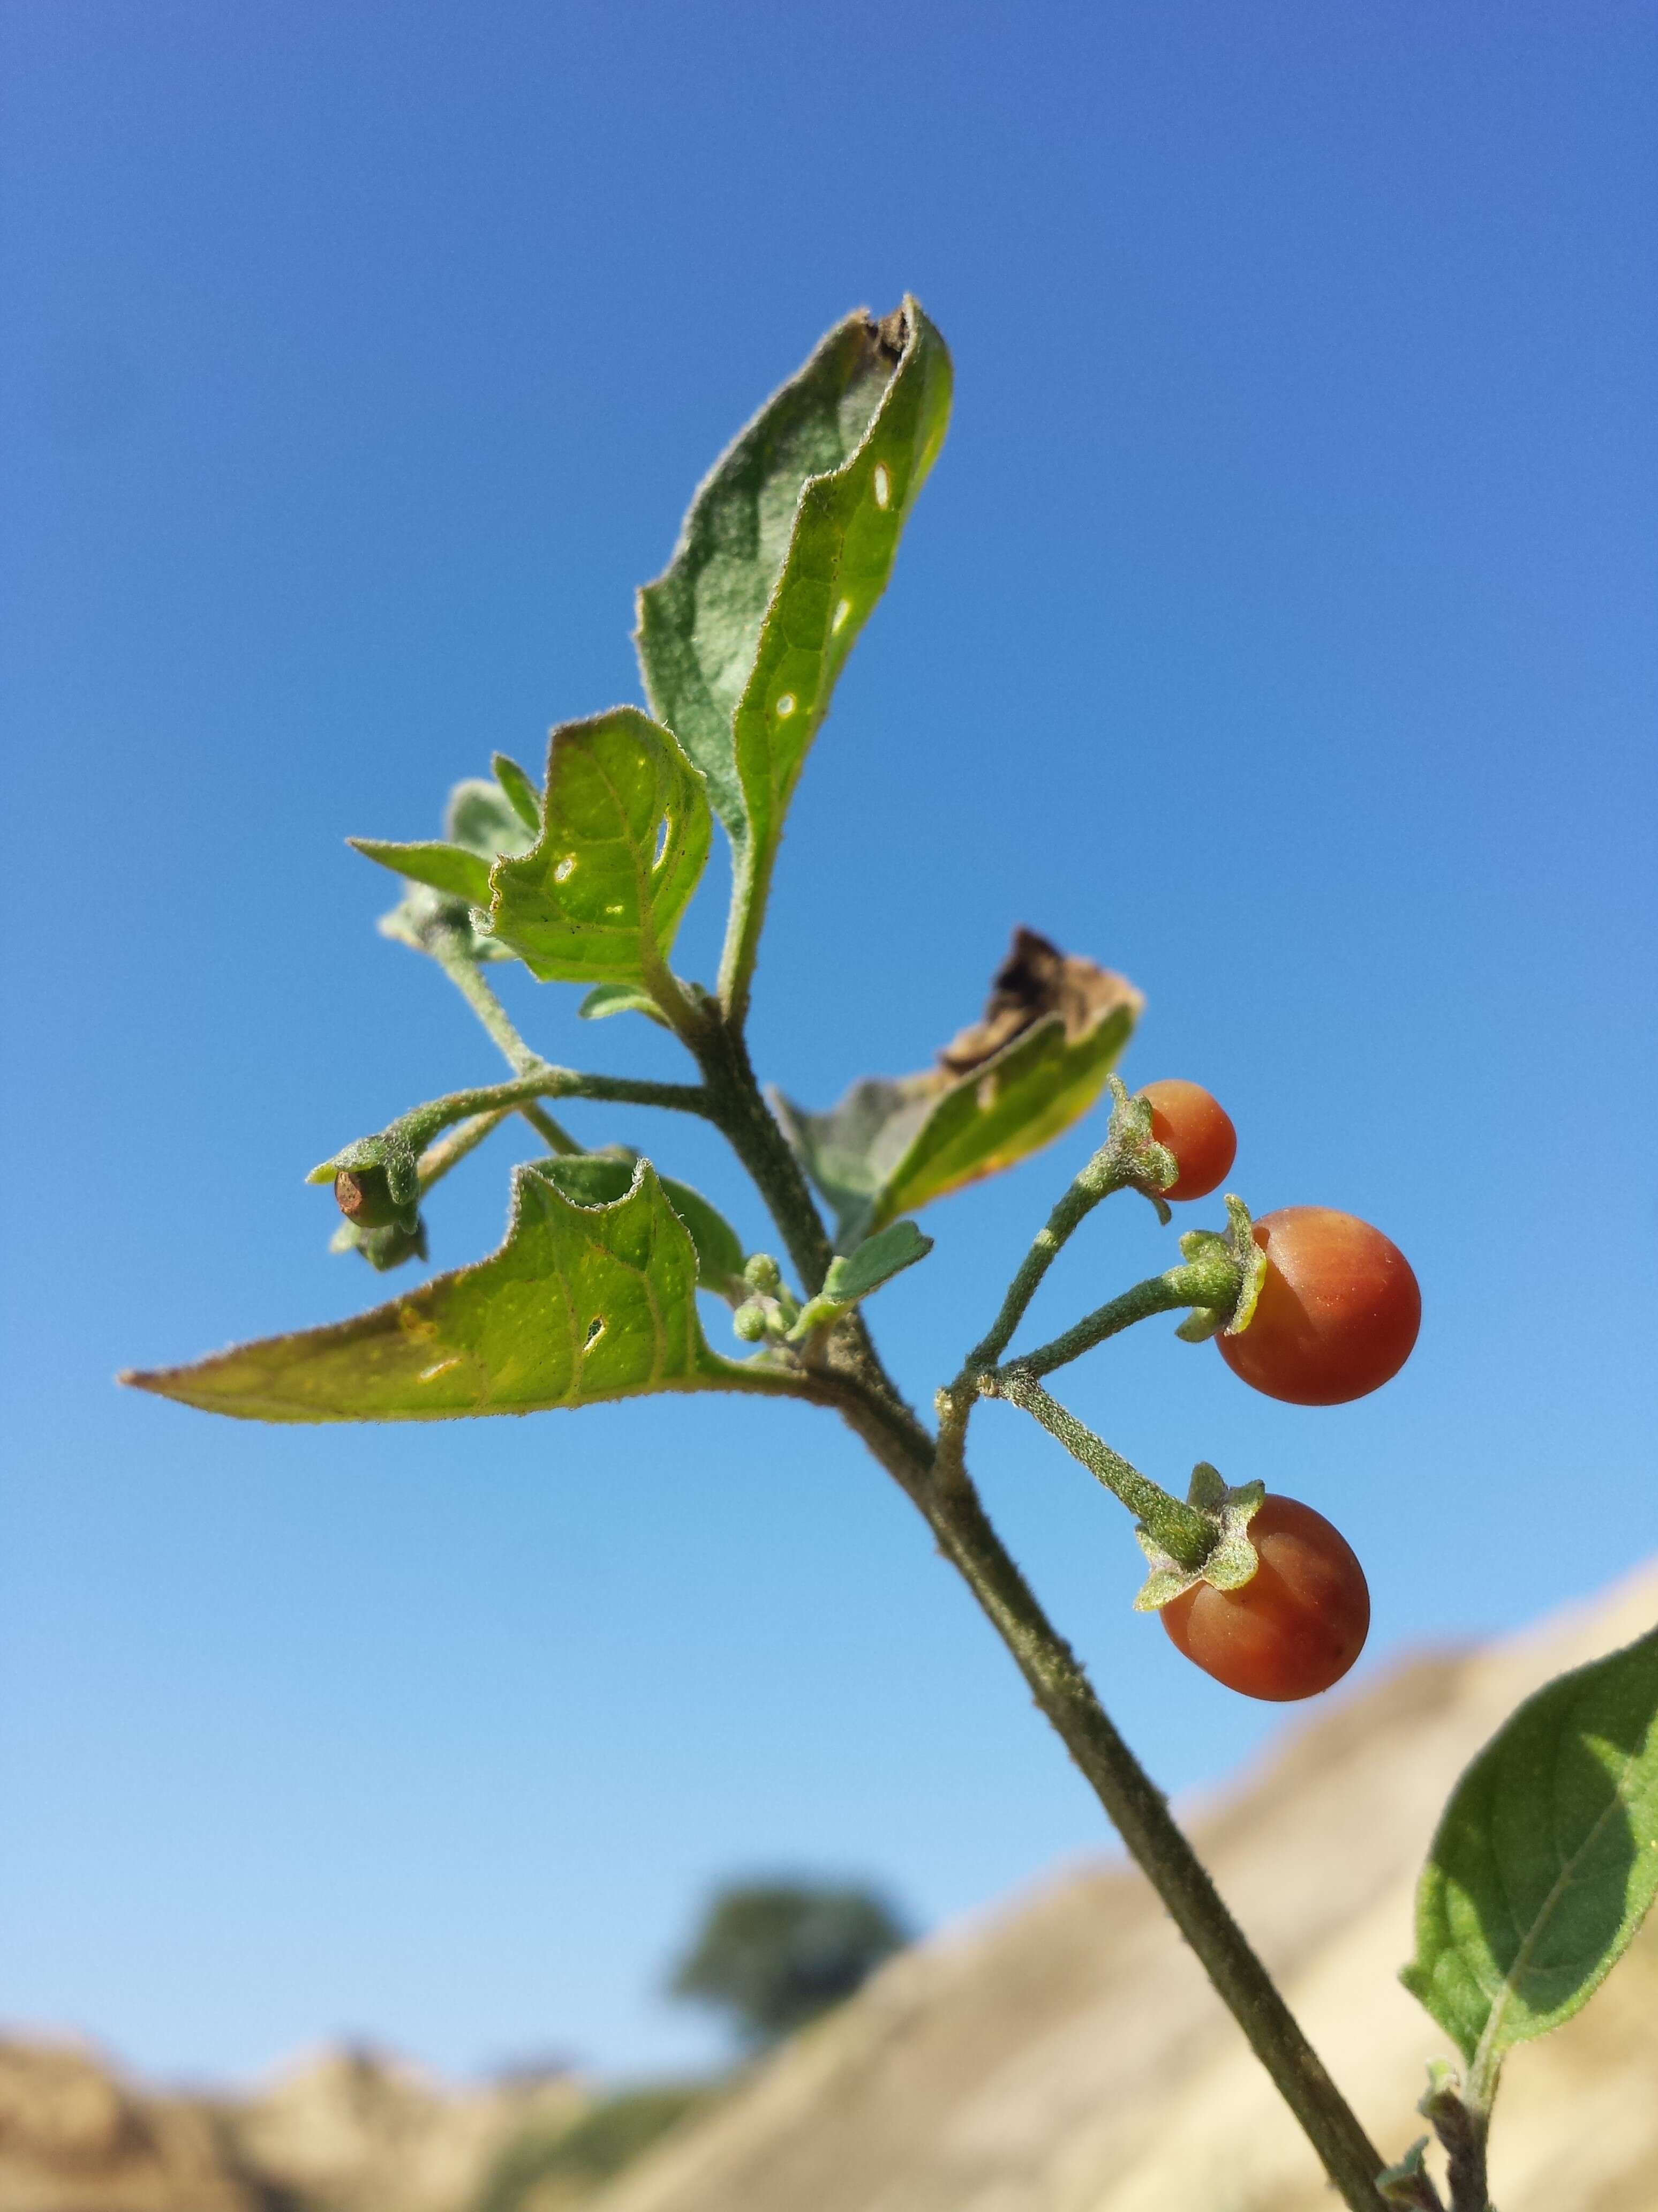
[[[517,1168],[491,1259],[356,1321],[122,1380],[243,1420],[447,1420],[778,1387],[710,1352],[692,1234],[643,1159],[599,1206],[568,1199],[548,1164]]]

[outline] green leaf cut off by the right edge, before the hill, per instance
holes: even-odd
[[[1528,1699],[1439,1820],[1402,1980],[1475,2090],[1587,2004],[1656,1889],[1658,1630]]]

